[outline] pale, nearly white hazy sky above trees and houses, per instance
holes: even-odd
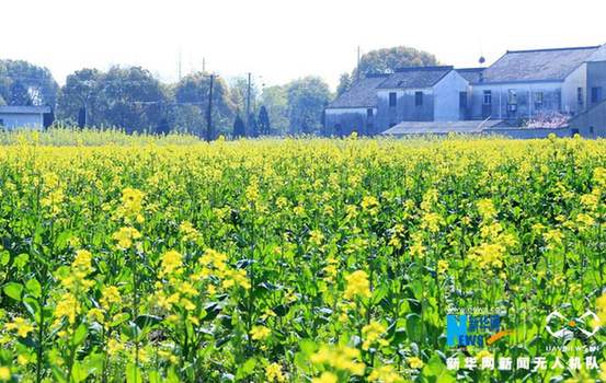
[[[0,58],[70,72],[138,65],[163,81],[206,68],[258,83],[331,86],[363,53],[405,45],[458,67],[506,49],[606,43],[606,1],[0,0]]]

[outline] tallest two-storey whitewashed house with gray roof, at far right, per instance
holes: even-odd
[[[508,50],[471,82],[472,118],[581,113],[602,101],[605,60],[604,46]]]

